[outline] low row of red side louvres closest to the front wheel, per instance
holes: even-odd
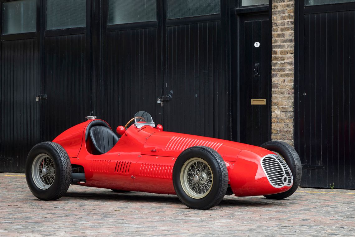
[[[143,163],[140,176],[171,179],[173,178],[173,166]]]

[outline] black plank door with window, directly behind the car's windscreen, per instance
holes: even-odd
[[[98,104],[101,118],[113,129],[138,111],[147,111],[155,124],[163,124],[163,107],[157,105],[163,94],[159,2],[103,1],[105,93]]]

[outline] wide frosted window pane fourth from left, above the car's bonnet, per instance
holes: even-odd
[[[168,19],[218,13],[219,0],[168,0]]]

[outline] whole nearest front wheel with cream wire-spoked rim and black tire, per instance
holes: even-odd
[[[206,210],[217,205],[226,194],[227,167],[219,153],[210,147],[190,147],[176,159],[173,184],[183,204]]]

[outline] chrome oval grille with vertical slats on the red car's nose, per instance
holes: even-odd
[[[282,188],[293,184],[292,173],[283,158],[274,154],[264,156],[261,158],[261,167],[273,187]]]

